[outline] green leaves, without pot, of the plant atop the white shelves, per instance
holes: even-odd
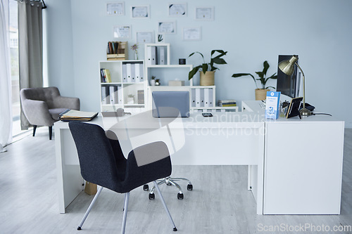
[[[202,53],[200,52],[194,52],[191,53],[189,57],[193,56],[195,53],[199,53],[201,55],[201,58],[203,58],[203,63],[199,66],[194,67],[188,74],[188,79],[191,79],[192,77],[194,77],[194,74],[196,74],[196,72],[199,71],[199,69],[201,69],[203,71],[204,74],[206,74],[207,71],[209,72],[213,72],[215,70],[219,70],[218,67],[214,67],[214,63],[215,64],[227,64],[226,61],[221,58],[222,56],[226,56],[227,51],[222,51],[222,50],[213,50],[211,51],[211,55],[210,55],[210,63],[206,63],[206,60],[204,60],[204,56]],[[218,56],[215,56],[213,58],[214,53],[218,53]]]

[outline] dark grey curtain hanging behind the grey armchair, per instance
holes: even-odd
[[[43,86],[42,2],[18,1],[20,89]],[[21,129],[29,123],[21,110]]]

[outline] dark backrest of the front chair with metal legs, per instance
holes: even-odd
[[[84,180],[113,188],[118,183],[118,169],[113,148],[105,131],[96,124],[68,123],[76,144]]]

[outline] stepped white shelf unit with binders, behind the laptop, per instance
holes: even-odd
[[[145,74],[147,79],[148,108],[151,109],[151,92],[153,91],[189,91],[189,107],[191,112],[238,111],[238,107],[216,107],[215,86],[194,86],[194,79],[188,79],[188,73],[193,65],[170,64],[170,44],[145,44]],[[160,58],[162,57],[162,58]],[[163,59],[164,58],[164,59]],[[162,64],[161,64],[162,63]],[[161,80],[161,86],[149,86],[151,77]],[[168,86],[170,80],[182,80],[184,86]],[[204,91],[208,93],[204,96]],[[211,95],[209,95],[212,93]],[[199,92],[199,103],[196,103],[195,93]],[[206,98],[208,101],[206,101]]]

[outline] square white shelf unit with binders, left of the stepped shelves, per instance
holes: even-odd
[[[111,82],[103,82],[102,69],[109,71]],[[146,108],[144,70],[144,60],[99,62],[101,112],[113,112],[118,108],[124,108],[130,112],[144,110]]]

